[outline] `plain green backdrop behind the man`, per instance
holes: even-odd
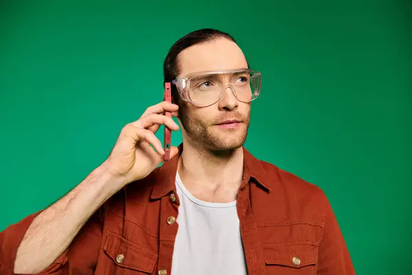
[[[174,41],[218,28],[262,72],[249,151],[325,191],[357,274],[407,274],[411,11],[391,0],[0,1],[0,230],[76,186],[161,100]]]

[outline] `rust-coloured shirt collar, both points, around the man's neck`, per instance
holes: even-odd
[[[176,154],[169,162],[163,163],[163,165],[155,170],[153,173],[153,180],[155,186],[153,186],[151,199],[160,199],[170,192],[176,192],[176,171],[177,164],[179,163],[179,157],[183,152],[183,143],[179,145],[179,153]],[[251,179],[254,179],[258,186],[262,187],[267,192],[271,191],[268,185],[268,179],[266,177],[266,171],[262,166],[262,162],[259,159],[253,157],[246,148],[243,149],[244,156],[244,171],[243,171],[243,181],[240,188],[244,188]]]

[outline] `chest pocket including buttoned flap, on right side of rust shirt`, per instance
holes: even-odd
[[[318,249],[314,243],[264,245],[266,274],[316,274]]]

